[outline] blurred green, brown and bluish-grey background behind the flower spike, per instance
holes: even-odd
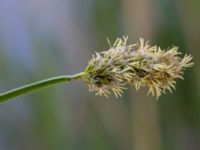
[[[199,150],[199,0],[0,0],[0,91],[80,72],[106,37],[139,37],[194,56],[159,101],[130,87],[95,96],[80,82],[0,105],[0,150]]]

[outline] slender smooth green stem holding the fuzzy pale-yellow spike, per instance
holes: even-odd
[[[64,76],[57,76],[57,77],[52,77],[44,80],[40,80],[34,83],[30,83],[24,86],[21,86],[16,89],[12,89],[10,91],[7,91],[5,93],[0,94],[0,103],[6,102],[10,99],[13,99],[17,96],[22,96],[31,92],[34,92],[36,90],[49,87],[58,83],[63,83],[63,82],[69,82],[73,79],[81,79],[85,75],[84,72],[77,73],[74,75],[64,75]]]

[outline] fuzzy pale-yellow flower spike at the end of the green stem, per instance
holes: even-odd
[[[127,40],[118,38],[109,50],[92,56],[84,77],[90,91],[106,97],[113,91],[118,97],[131,84],[136,90],[147,87],[158,98],[166,90],[172,93],[176,79],[183,79],[185,68],[193,65],[191,55],[179,57],[178,47],[162,50],[142,38],[130,45]]]

